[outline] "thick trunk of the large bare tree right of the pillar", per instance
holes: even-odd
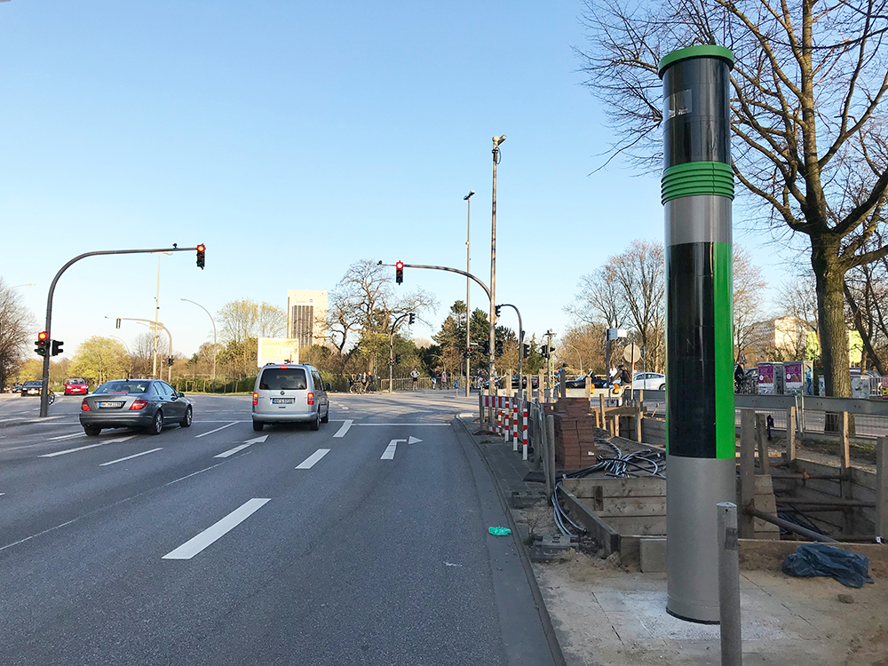
[[[821,362],[827,395],[851,397],[851,361],[848,326],[844,320],[845,268],[833,239],[811,237],[811,265],[817,281],[817,319],[820,321]]]

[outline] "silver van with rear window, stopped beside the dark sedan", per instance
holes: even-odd
[[[265,424],[307,423],[312,430],[329,421],[330,385],[307,364],[268,364],[253,387],[253,430]]]

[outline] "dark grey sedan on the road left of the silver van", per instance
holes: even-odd
[[[102,428],[146,428],[149,435],[157,435],[164,425],[187,428],[193,414],[185,393],[160,379],[115,379],[80,404],[80,424],[90,437]]]

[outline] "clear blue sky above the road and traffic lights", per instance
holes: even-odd
[[[659,176],[614,162],[607,107],[583,87],[578,2],[0,3],[0,277],[44,328],[53,276],[94,250],[160,256],[160,321],[177,353],[212,341],[210,313],[288,289],[334,289],[360,259],[465,269],[528,337],[571,324],[583,274],[661,240]],[[593,173],[594,171],[594,173]],[[741,242],[772,284],[788,266]],[[392,278],[394,269],[392,268]],[[123,337],[154,319],[158,255],[84,258],[59,278],[52,337]],[[405,269],[432,292],[432,337],[465,298],[456,274]],[[472,307],[484,304],[472,288]],[[518,329],[506,308],[500,320]],[[557,346],[557,342],[556,342]]]

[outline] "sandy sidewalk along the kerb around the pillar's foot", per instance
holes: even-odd
[[[460,420],[478,433],[472,417]],[[511,507],[511,493],[543,492],[524,480],[534,469],[502,437],[474,440]],[[546,504],[537,515],[551,516]],[[534,510],[511,509],[520,524]],[[538,534],[547,532],[540,522]],[[615,557],[615,556],[614,556]],[[829,578],[792,578],[781,561],[744,564],[741,570],[743,663],[888,666],[888,567],[873,562],[874,585],[846,588]],[[666,613],[666,575],[643,574],[571,551],[559,562],[533,564],[536,581],[568,666],[670,664],[718,666],[718,626],[678,620]]]

